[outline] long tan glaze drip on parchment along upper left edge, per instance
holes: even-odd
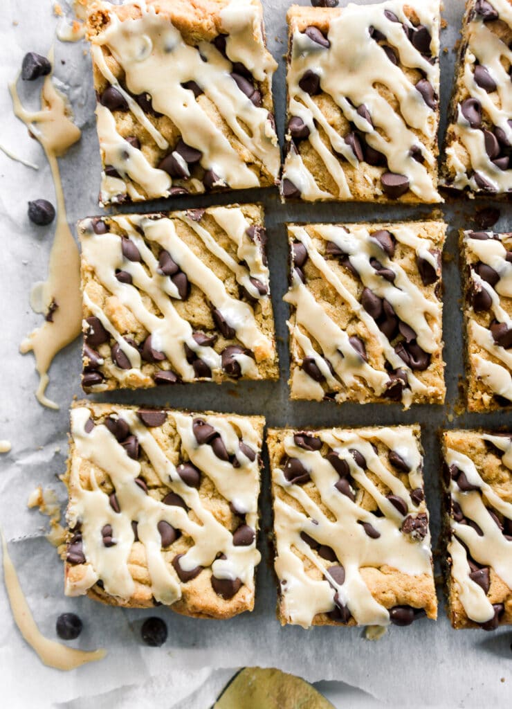
[[[53,63],[53,51],[50,52]],[[48,369],[53,358],[69,345],[81,330],[80,257],[78,247],[69,230],[64,203],[64,193],[57,157],[61,157],[80,138],[80,130],[67,116],[64,96],[57,91],[49,74],[42,86],[40,111],[27,111],[21,104],[16,84],[10,84],[15,116],[28,126],[30,133],[40,142],[52,170],[57,199],[55,238],[50,252],[46,281],[36,283],[30,295],[30,305],[36,313],[51,312],[51,320],[45,320],[35,328],[20,345],[20,351],[33,352],[35,369],[40,383],[35,396],[49,408],[59,408],[45,396]],[[50,309],[51,306],[51,309]],[[57,306],[57,307],[55,307]]]

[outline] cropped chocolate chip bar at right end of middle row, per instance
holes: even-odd
[[[470,411],[512,406],[512,233],[462,231]]]

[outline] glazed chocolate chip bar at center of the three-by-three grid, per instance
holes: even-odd
[[[291,398],[443,403],[445,228],[288,225]]]

